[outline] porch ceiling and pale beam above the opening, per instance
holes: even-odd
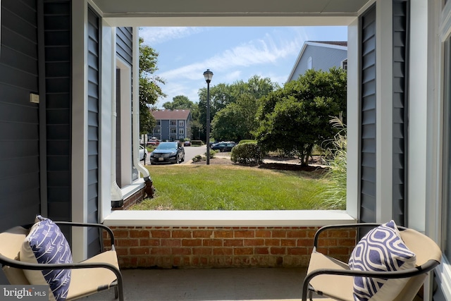
[[[348,25],[371,2],[372,0],[91,0],[102,16],[116,26]],[[318,17],[324,18],[317,21]]]

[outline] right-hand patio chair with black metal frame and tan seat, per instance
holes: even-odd
[[[402,271],[354,271],[347,263],[316,251],[319,237],[325,231],[340,228],[376,228],[380,225],[379,223],[354,223],[320,228],[314,236],[314,252],[311,254],[307,276],[302,284],[302,300],[307,301],[307,294],[309,300],[313,300],[313,293],[316,293],[333,300],[353,301],[353,276],[386,279],[409,278],[400,293],[393,295],[391,300],[414,300],[428,273],[440,264],[442,255],[440,247],[426,235],[413,229],[397,227],[404,245],[416,254],[416,267]]]

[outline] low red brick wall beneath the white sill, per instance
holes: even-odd
[[[111,227],[121,268],[307,267],[317,227]],[[321,235],[319,251],[347,262],[356,233]],[[104,246],[111,249],[104,233]]]

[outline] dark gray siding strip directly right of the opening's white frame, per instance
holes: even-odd
[[[376,6],[360,20],[362,30],[362,140],[359,220],[376,221]]]

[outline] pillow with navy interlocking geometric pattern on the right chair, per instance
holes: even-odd
[[[364,235],[352,251],[350,269],[397,271],[415,267],[416,256],[402,241],[395,221],[384,223]],[[354,300],[393,300],[408,278],[382,279],[354,276]]]

